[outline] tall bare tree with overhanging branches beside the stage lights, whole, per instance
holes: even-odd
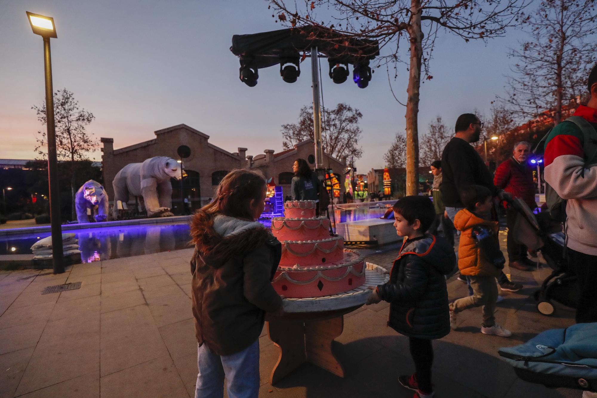
[[[375,39],[381,56],[377,67],[392,64],[407,66],[406,101],[407,195],[418,190],[418,102],[421,67],[427,79],[429,61],[438,32],[448,31],[469,41],[503,36],[506,29],[518,25],[522,9],[530,0],[267,0],[278,11],[277,18],[288,26],[312,25],[321,28],[319,39],[337,41],[342,33],[349,37]],[[321,16],[318,11],[321,10]],[[287,18],[288,14],[288,18]],[[331,14],[331,15],[330,15]],[[275,14],[272,14],[276,17]],[[322,20],[326,19],[326,20]],[[441,29],[443,28],[443,29]],[[423,34],[423,30],[425,34]],[[326,32],[328,34],[326,34]],[[402,58],[401,39],[406,41],[407,59]],[[347,42],[342,43],[347,45]],[[389,79],[388,72],[388,79]],[[391,85],[390,85],[391,88]],[[396,99],[398,100],[398,99]]]

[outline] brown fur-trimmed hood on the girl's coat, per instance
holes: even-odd
[[[213,224],[194,217],[190,225],[198,255],[212,267],[218,268],[232,256],[251,252],[263,243],[275,241],[269,229],[260,222],[224,215],[217,215],[212,220]]]

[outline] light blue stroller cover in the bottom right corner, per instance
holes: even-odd
[[[597,323],[546,330],[524,344],[500,348],[498,353],[522,379],[532,372],[536,376],[528,381],[549,387],[564,387],[553,385],[558,376],[577,379],[576,388],[597,387]]]

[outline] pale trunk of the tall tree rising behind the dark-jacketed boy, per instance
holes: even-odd
[[[421,85],[421,0],[411,0],[410,68],[408,74],[407,100],[407,195],[418,192],[418,97]]]

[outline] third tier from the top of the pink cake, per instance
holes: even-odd
[[[282,241],[281,267],[307,267],[342,261],[344,240],[340,236],[319,240]]]

